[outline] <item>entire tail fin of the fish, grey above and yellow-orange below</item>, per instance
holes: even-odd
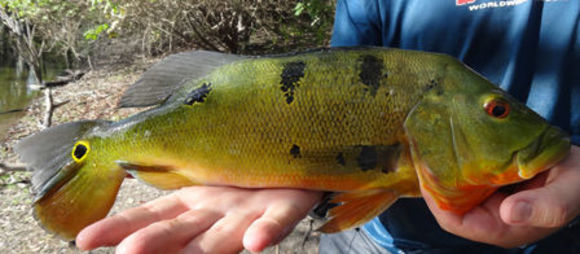
[[[99,158],[87,138],[109,124],[67,123],[27,137],[14,147],[20,160],[34,171],[36,219],[66,240],[107,215],[125,176],[114,162]]]

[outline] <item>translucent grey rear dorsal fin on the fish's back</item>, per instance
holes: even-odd
[[[163,103],[184,80],[201,78],[222,65],[249,58],[219,52],[194,50],[170,55],[147,70],[133,84],[119,107],[144,107]]]

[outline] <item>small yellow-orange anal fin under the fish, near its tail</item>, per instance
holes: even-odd
[[[116,161],[116,163],[134,178],[162,190],[198,185],[198,183],[180,174],[172,166],[139,165],[127,161]]]

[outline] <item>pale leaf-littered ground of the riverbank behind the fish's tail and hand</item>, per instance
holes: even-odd
[[[158,59],[139,59],[130,65],[107,66],[88,72],[83,78],[53,90],[55,104],[66,102],[54,111],[53,125],[82,119],[116,121],[141,109],[119,109],[117,103],[125,89]],[[38,132],[43,119],[44,100],[37,98],[24,116],[12,125],[0,141],[0,162],[18,163],[13,145],[23,137]],[[79,253],[74,246],[44,231],[33,219],[28,172],[10,172],[0,176],[0,253]],[[136,180],[123,183],[112,213],[134,207],[166,192]],[[318,234],[309,231],[308,219],[276,247],[266,253],[316,253]],[[307,239],[306,241],[304,239]],[[91,253],[114,253],[101,248]]]

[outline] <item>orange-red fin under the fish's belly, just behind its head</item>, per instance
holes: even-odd
[[[330,209],[330,220],[318,228],[324,233],[336,233],[356,227],[386,210],[399,195],[390,190],[371,189],[341,193],[330,200],[341,205]]]

